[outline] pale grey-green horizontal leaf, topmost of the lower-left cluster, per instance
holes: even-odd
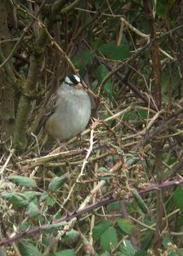
[[[12,183],[15,183],[18,186],[23,186],[23,187],[31,187],[35,188],[37,187],[37,183],[35,180],[31,177],[23,177],[19,175],[11,175],[7,177]]]

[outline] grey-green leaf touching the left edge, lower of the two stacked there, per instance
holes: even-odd
[[[11,193],[4,191],[2,194],[3,198],[9,201],[9,203],[13,204],[14,207],[27,207],[29,201],[26,198],[26,195],[23,193]]]

